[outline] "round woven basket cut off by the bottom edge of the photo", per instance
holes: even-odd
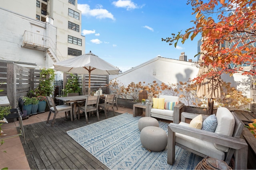
[[[207,156],[197,164],[195,170],[231,170],[231,168],[223,160]]]

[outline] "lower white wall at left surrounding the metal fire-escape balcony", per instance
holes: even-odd
[[[47,25],[48,29],[46,30],[47,23],[27,18],[3,8],[0,8],[0,16],[0,23],[2,23],[0,59],[37,64],[36,69],[52,66],[52,59],[49,59],[48,55],[44,59],[44,51],[21,46],[24,31],[36,30],[35,27],[44,31],[45,36],[55,38],[56,41],[56,27]]]

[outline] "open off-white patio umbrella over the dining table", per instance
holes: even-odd
[[[91,51],[71,59],[54,63],[54,69],[63,72],[72,72],[76,74],[89,74],[88,91],[90,95],[91,74],[94,75],[115,75],[119,74],[120,69],[112,64],[100,59]]]

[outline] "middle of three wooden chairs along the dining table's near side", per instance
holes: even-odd
[[[98,120],[100,120],[99,117],[99,111],[98,111],[98,104],[99,104],[100,96],[88,96],[86,98],[86,102],[84,106],[79,106],[78,111],[83,111],[85,114],[86,123],[88,123],[88,115],[87,112],[89,112],[89,117],[93,111],[96,111]],[[78,114],[78,120],[80,120],[80,114]]]

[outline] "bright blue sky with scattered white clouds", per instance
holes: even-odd
[[[187,0],[78,0],[85,53],[92,51],[123,72],[160,55],[197,61],[196,37],[177,48],[161,40],[194,26]]]

